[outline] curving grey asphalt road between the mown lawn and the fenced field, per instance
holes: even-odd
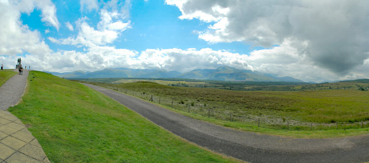
[[[369,161],[369,135],[304,139],[261,135],[216,126],[141,99],[85,84],[188,141],[246,162],[355,163]]]

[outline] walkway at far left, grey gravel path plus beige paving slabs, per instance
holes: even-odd
[[[0,163],[50,163],[37,139],[13,114],[27,86],[29,71],[15,75],[0,87]]]

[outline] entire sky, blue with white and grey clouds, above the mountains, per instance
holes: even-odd
[[[368,0],[0,0],[0,62],[369,78]]]

